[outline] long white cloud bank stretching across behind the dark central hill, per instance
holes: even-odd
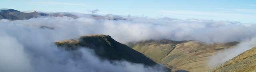
[[[74,38],[88,34],[106,34],[119,42],[166,38],[171,40],[197,40],[202,42],[232,42],[253,38],[255,24],[214,20],[179,20],[172,18],[128,20],[101,20],[90,17],[43,17],[30,20],[1,20],[1,24],[20,24],[30,27],[47,26],[50,32],[66,32],[62,36]],[[71,34],[71,35],[69,35]]]

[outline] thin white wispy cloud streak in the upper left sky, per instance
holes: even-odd
[[[86,4],[79,3],[63,3],[63,2],[28,2],[28,4],[36,5],[69,5],[69,6],[86,6]]]

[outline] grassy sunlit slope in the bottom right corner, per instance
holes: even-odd
[[[243,52],[210,72],[256,72],[256,47]]]

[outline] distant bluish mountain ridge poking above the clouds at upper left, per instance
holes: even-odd
[[[88,14],[89,18],[94,18],[94,19],[104,19],[104,20],[127,20],[126,18],[112,15],[112,14],[107,14],[106,16],[100,16],[96,14]],[[37,18],[40,16],[55,16],[55,17],[71,17],[71,18],[79,18],[78,16],[71,14],[71,13],[66,13],[66,12],[56,12],[56,13],[39,13],[39,12],[20,12],[18,10],[14,9],[6,9],[6,10],[0,10],[0,20],[1,19],[8,19],[8,20],[28,20],[30,18]]]

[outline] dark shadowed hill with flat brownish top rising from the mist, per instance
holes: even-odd
[[[147,66],[155,65],[156,62],[144,56],[140,52],[121,44],[110,36],[89,35],[77,39],[63,40],[55,44],[65,50],[76,50],[79,47],[88,47],[95,50],[97,56],[108,60],[127,60],[129,62],[141,63]]]

